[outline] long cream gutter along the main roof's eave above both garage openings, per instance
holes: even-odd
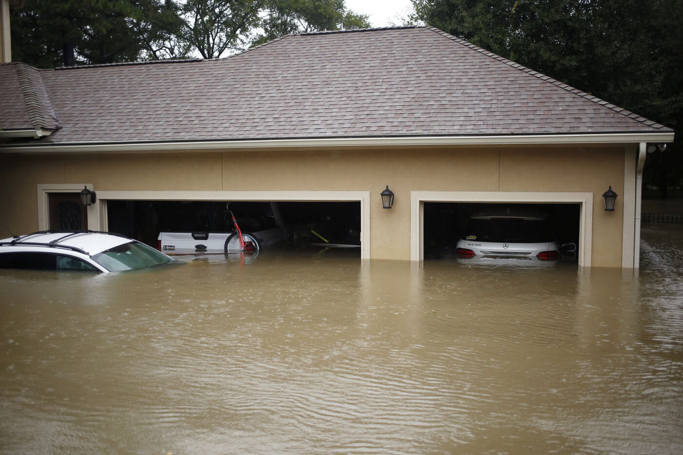
[[[510,145],[595,145],[613,143],[673,142],[671,133],[606,133],[577,135],[473,135],[349,137],[332,139],[263,139],[235,141],[169,141],[66,143],[63,145],[0,146],[5,153],[79,153],[79,152],[171,152],[178,150],[260,149],[260,148],[367,148],[436,146],[510,146]]]

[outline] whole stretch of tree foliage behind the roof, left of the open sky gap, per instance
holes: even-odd
[[[217,58],[286,33],[369,27],[344,0],[28,0],[12,54],[38,68]]]

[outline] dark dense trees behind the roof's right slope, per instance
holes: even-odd
[[[674,129],[683,125],[680,0],[413,0],[413,5],[413,20],[650,120]],[[675,148],[678,141],[645,167],[648,182],[663,195],[683,182],[683,158]]]

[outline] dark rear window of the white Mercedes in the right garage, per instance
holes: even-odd
[[[542,243],[553,238],[546,221],[521,218],[471,219],[467,236],[501,243]]]

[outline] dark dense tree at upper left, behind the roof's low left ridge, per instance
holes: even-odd
[[[167,56],[182,23],[171,0],[33,0],[12,15],[12,54],[38,68]],[[177,53],[177,50],[173,51]]]

